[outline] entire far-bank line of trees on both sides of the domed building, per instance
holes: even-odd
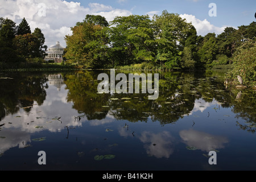
[[[142,65],[160,69],[208,69],[234,61],[237,49],[255,43],[256,22],[225,28],[222,34],[197,35],[192,23],[178,14],[117,16],[108,22],[100,15],[86,15],[66,35],[65,64],[78,68],[119,68]],[[0,68],[42,63],[47,46],[40,28],[31,33],[25,18],[16,26],[0,18]],[[254,45],[254,44],[253,44]],[[8,67],[8,66],[7,66]]]

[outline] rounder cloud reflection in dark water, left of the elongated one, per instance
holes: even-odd
[[[174,138],[168,131],[163,131],[158,134],[151,133],[150,131],[143,131],[139,139],[144,143],[144,148],[150,156],[155,156],[156,158],[169,158],[174,152]]]

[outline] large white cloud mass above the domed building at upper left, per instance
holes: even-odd
[[[39,6],[39,5],[45,6]],[[45,16],[42,16],[42,9]],[[40,14],[41,13],[41,14]],[[65,46],[65,35],[71,35],[70,27],[84,20],[86,14],[104,16],[109,22],[115,16],[127,16],[131,11],[114,9],[100,3],[89,3],[88,7],[79,2],[61,0],[6,0],[0,1],[0,16],[14,20],[18,25],[23,18],[30,24],[31,31],[40,28],[46,37],[46,45],[53,46],[59,41]]]

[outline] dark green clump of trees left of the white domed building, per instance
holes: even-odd
[[[16,26],[13,20],[0,18],[0,69],[42,63],[47,46],[40,28],[31,32],[25,18]]]

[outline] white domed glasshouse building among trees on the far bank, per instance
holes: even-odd
[[[50,47],[46,53],[47,56],[44,60],[53,60],[55,63],[61,63],[63,61],[64,47],[60,46],[60,42],[56,42],[55,46]]]

